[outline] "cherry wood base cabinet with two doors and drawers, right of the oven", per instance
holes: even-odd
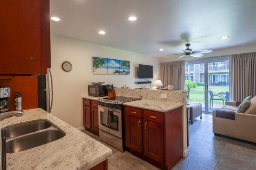
[[[183,107],[154,112],[124,107],[126,149],[162,169],[170,170],[183,156]],[[136,113],[131,113],[136,112]]]

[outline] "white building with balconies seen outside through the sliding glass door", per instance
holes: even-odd
[[[204,82],[204,63],[186,64],[185,80]],[[229,86],[229,62],[208,63],[208,84],[210,86]]]

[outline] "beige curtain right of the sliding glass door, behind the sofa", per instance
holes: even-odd
[[[230,60],[230,98],[243,101],[256,95],[256,52],[236,54]]]

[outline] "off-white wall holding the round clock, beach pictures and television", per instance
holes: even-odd
[[[130,75],[93,75],[93,56],[130,61]],[[70,72],[62,70],[61,64],[64,61],[72,63],[73,69]],[[82,127],[81,97],[87,95],[87,86],[90,82],[105,81],[118,87],[123,84],[128,87],[139,86],[134,83],[138,80],[135,66],[139,63],[153,65],[153,81],[159,78],[159,58],[51,35],[51,71],[54,89],[52,114],[73,127]]]

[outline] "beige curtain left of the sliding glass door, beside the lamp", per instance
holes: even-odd
[[[160,63],[160,78],[163,86],[172,84],[174,89],[184,89],[185,61]]]

